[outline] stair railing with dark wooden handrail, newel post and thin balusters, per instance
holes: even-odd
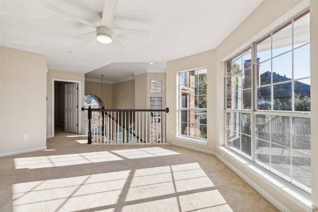
[[[87,111],[88,144],[164,143],[169,109],[93,109]]]

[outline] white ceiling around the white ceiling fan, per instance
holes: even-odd
[[[117,35],[120,45],[99,43],[95,35],[75,39],[94,29],[46,7],[100,25],[104,0],[0,0],[0,45],[46,55],[49,69],[85,73],[92,80],[103,74],[115,83],[164,72],[167,61],[216,48],[261,1],[118,0],[111,28],[150,31]]]

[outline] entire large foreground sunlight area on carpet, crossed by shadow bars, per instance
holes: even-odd
[[[232,212],[198,163],[12,185],[12,211]]]

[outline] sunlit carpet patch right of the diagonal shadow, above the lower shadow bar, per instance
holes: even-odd
[[[214,187],[214,184],[198,163],[138,169],[126,201],[209,187]]]

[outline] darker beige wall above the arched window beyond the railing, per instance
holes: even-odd
[[[103,83],[103,95],[101,93],[101,82],[85,81],[85,95],[94,94],[100,97],[106,104],[107,109],[113,108],[113,85]]]

